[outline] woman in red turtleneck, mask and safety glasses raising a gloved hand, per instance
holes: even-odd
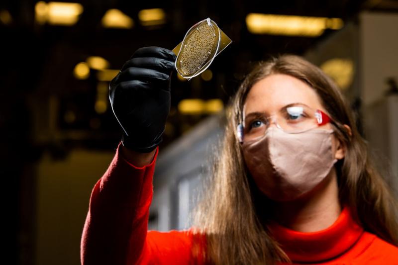
[[[111,82],[124,135],[92,193],[82,264],[398,264],[397,201],[339,90],[296,56],[238,89],[196,228],[147,232],[174,61],[142,48]]]

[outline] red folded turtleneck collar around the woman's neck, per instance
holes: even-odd
[[[298,232],[276,222],[268,224],[275,240],[292,262],[322,262],[349,250],[364,232],[345,206],[337,220],[328,228],[317,232]]]

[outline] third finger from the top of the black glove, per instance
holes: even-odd
[[[142,81],[167,81],[170,76],[161,73],[153,69],[129,67],[126,70],[119,73],[117,82],[130,81],[130,80],[142,80]]]

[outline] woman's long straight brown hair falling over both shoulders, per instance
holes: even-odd
[[[345,158],[335,166],[340,201],[350,206],[354,218],[365,230],[397,245],[397,200],[372,165],[367,143],[359,134],[342,94],[319,68],[298,56],[284,55],[259,63],[246,76],[227,109],[225,134],[213,163],[213,174],[195,215],[197,227],[206,234],[208,261],[267,265],[289,262],[267,231],[266,213],[257,210],[259,192],[244,164],[236,135],[248,91],[272,74],[290,75],[317,92],[322,105],[336,121],[336,137],[346,146]]]

